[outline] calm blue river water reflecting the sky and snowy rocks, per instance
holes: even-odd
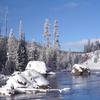
[[[70,91],[21,94],[12,97],[0,97],[0,100],[100,100],[100,73],[75,77],[69,72],[57,72],[48,76],[52,88],[66,88]]]

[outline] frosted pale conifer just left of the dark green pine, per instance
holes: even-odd
[[[10,30],[7,42],[7,61],[5,64],[5,74],[12,74],[15,70],[16,54],[17,54],[17,41],[14,37],[13,30]]]

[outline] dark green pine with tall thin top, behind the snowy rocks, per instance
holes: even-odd
[[[19,35],[20,35],[20,41],[17,50],[16,70],[24,71],[28,62],[28,56],[25,43],[25,35],[24,32],[22,32],[22,20],[20,20]]]

